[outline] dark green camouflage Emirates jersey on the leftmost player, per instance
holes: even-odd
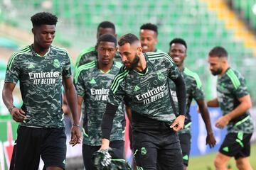
[[[61,87],[63,77],[71,77],[70,58],[62,48],[50,46],[41,57],[32,45],[24,47],[9,59],[5,82],[20,81],[23,111],[21,125],[36,128],[64,127]]]

